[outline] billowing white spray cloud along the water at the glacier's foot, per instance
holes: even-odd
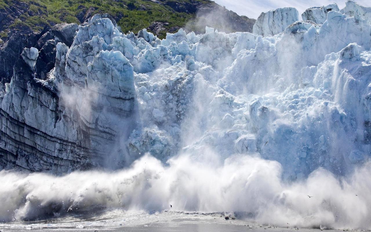
[[[281,180],[276,161],[213,153],[207,161],[183,154],[168,166],[148,154],[127,170],[43,173],[0,171],[0,220],[53,218],[102,208],[248,212],[270,225],[370,229],[371,163],[348,178],[324,169],[300,182]],[[313,196],[309,198],[307,195]],[[358,196],[356,196],[358,195]]]

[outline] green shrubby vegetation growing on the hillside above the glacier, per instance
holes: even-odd
[[[209,3],[208,0],[198,0]],[[17,4],[19,0],[1,0],[0,9]],[[109,13],[115,18],[121,18],[117,23],[123,32],[138,32],[147,28],[153,22],[167,22],[165,27],[183,27],[194,14],[175,12],[165,4],[150,0],[22,0],[28,4],[29,11],[22,14],[10,28],[28,26],[33,30],[42,30],[45,25],[56,23],[79,23],[77,16],[84,10],[93,9],[95,13]],[[182,3],[190,3],[182,0]],[[160,37],[165,36],[163,32]]]

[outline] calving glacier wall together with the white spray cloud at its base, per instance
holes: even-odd
[[[160,40],[97,14],[70,46],[57,41],[46,79],[25,48],[0,92],[2,166],[70,174],[0,171],[0,219],[182,202],[370,229],[371,9],[347,1],[303,15],[282,8],[253,33]],[[92,168],[104,171],[76,171]]]

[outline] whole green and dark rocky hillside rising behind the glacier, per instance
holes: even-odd
[[[213,11],[217,17],[204,18]],[[210,0],[2,0],[0,38],[7,40],[13,30],[31,33],[58,23],[79,24],[96,13],[111,15],[122,32],[147,28],[160,38],[180,27],[204,32],[205,23],[226,32],[251,32],[255,22]],[[196,20],[196,15],[202,20]]]

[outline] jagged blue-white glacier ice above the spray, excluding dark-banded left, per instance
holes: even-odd
[[[283,8],[262,13],[254,34],[180,29],[162,40],[145,29],[125,35],[95,16],[70,48],[58,43],[55,68],[38,82],[55,89],[62,113],[35,127],[100,157],[116,149],[124,161],[259,153],[287,178],[318,167],[345,174],[371,151],[370,12],[348,1],[340,11],[308,9],[299,22],[296,9]],[[32,66],[33,50],[24,54]],[[2,109],[26,123],[50,114],[16,100],[15,79]]]

